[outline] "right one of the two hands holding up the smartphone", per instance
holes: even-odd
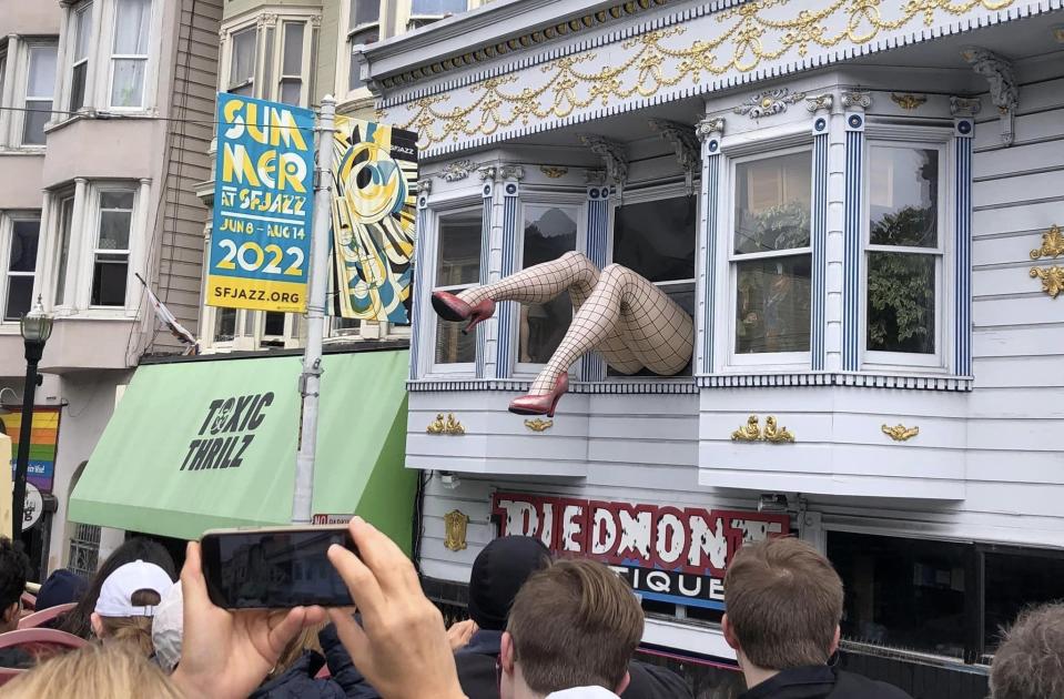
[[[347,528],[362,558],[334,545],[328,559],[362,612],[362,627],[343,610],[328,616],[355,667],[386,699],[464,697],[443,616],[422,592],[414,566],[361,517]]]

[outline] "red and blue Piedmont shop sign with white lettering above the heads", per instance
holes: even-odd
[[[786,536],[786,514],[496,493],[499,536],[537,537],[558,556],[610,565],[657,601],[724,608],[723,577],[744,543]]]

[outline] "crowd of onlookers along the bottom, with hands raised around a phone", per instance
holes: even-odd
[[[473,566],[469,619],[446,629],[403,551],[358,517],[349,531],[359,555],[327,556],[355,610],[221,609],[199,544],[175,580],[163,547],[131,539],[91,582],[57,571],[42,586],[38,609],[71,606],[48,625],[83,639],[47,659],[2,642],[18,632],[29,561],[0,538],[0,667],[21,668],[0,697],[693,699],[676,673],[635,660],[642,609],[601,564],[495,539]],[[724,589],[741,699],[908,697],[838,667],[842,581],[810,545],[744,545]],[[1004,634],[990,685],[993,699],[1064,697],[1064,604],[1028,609]]]

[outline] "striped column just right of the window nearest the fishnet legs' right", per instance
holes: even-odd
[[[830,95],[828,95],[830,97]],[[813,115],[812,298],[810,300],[810,367],[824,371],[828,357],[828,134],[831,101]]]

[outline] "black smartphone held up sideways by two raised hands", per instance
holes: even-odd
[[[352,606],[351,594],[325,551],[358,550],[346,525],[214,529],[201,539],[211,601],[225,609]]]

